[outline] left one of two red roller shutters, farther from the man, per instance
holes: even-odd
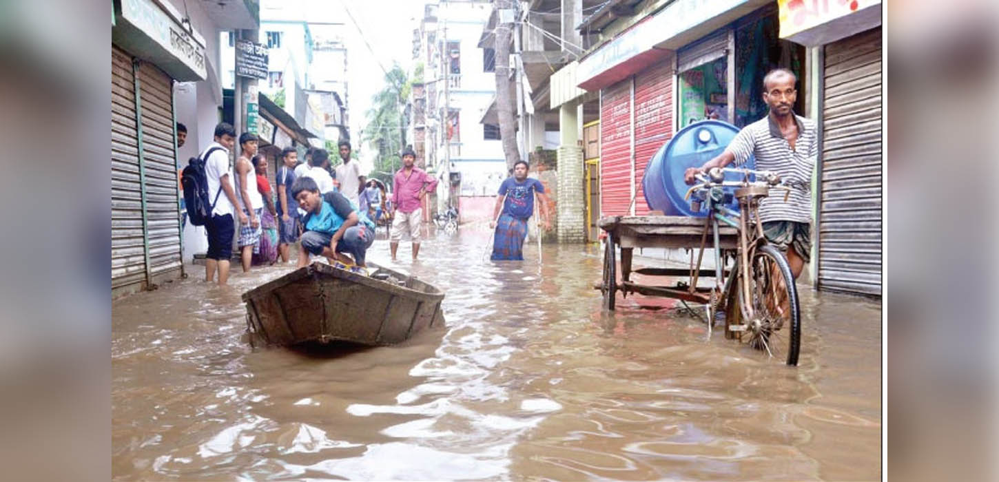
[[[628,214],[631,203],[631,79],[601,93],[600,216]]]

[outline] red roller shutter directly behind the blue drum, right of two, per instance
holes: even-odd
[[[634,214],[641,216],[648,214],[641,178],[648,161],[673,135],[672,59],[648,67],[634,84]]]

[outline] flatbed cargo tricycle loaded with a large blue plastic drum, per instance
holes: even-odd
[[[680,130],[659,149],[642,189],[649,209],[662,215],[599,220],[606,240],[602,279],[595,287],[606,309],[615,308],[618,292],[703,304],[709,336],[715,322],[723,320],[726,338],[797,365],[801,320],[794,277],[784,254],[763,237],[758,216],[759,203],[771,190],[786,197],[789,188],[775,173],[753,169],[751,160],[739,169],[698,175],[692,187],[683,184],[687,168],[720,154],[737,132],[724,122],[702,121]],[[684,248],[690,252],[689,265],[632,269],[635,247]],[[702,269],[707,249],[713,249],[714,266]],[[674,282],[638,283],[632,274]]]

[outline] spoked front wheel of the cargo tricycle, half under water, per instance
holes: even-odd
[[[742,287],[746,281],[750,299],[745,299]],[[748,307],[753,311],[753,319],[743,320],[746,327],[740,338],[769,356],[786,356],[788,365],[797,365],[801,313],[787,258],[772,245],[757,247],[750,260],[749,279],[740,278],[736,284],[740,311],[748,312]]]

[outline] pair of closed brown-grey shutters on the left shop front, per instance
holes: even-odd
[[[172,83],[156,66],[136,67],[112,47],[112,295],[181,272]]]

